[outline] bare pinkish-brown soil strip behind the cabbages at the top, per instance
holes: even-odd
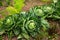
[[[31,7],[36,5],[49,4],[50,2],[41,2],[40,0],[25,0],[25,6],[23,7],[23,11],[28,11]]]

